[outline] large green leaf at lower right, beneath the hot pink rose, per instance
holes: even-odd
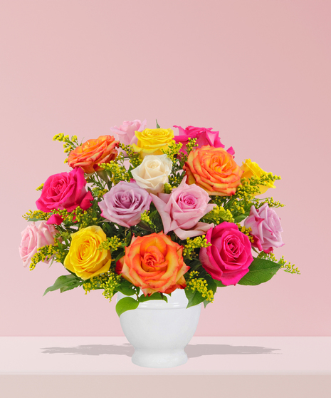
[[[239,280],[239,285],[260,285],[268,282],[280,269],[280,264],[263,258],[256,258],[249,266],[247,274]]]

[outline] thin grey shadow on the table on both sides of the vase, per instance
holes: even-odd
[[[77,355],[127,355],[132,357],[135,349],[129,343],[123,345],[78,345],[77,347],[45,347],[43,354],[77,354]],[[280,354],[279,348],[267,348],[247,345],[197,344],[187,345],[187,357],[195,358],[204,355],[249,355]]]

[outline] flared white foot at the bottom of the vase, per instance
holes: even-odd
[[[187,362],[184,349],[156,351],[135,349],[132,363],[142,367],[176,367]]]

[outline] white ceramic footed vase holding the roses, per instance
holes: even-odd
[[[117,292],[117,302],[126,297]],[[142,367],[176,367],[187,362],[184,348],[196,331],[201,304],[186,309],[182,289],[164,300],[140,303],[122,313],[120,322],[127,340],[135,347],[132,362]]]

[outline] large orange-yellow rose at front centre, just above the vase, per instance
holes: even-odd
[[[189,267],[184,263],[182,251],[183,246],[163,232],[134,237],[125,248],[125,256],[117,261],[116,272],[139,286],[145,296],[184,289],[183,275]]]

